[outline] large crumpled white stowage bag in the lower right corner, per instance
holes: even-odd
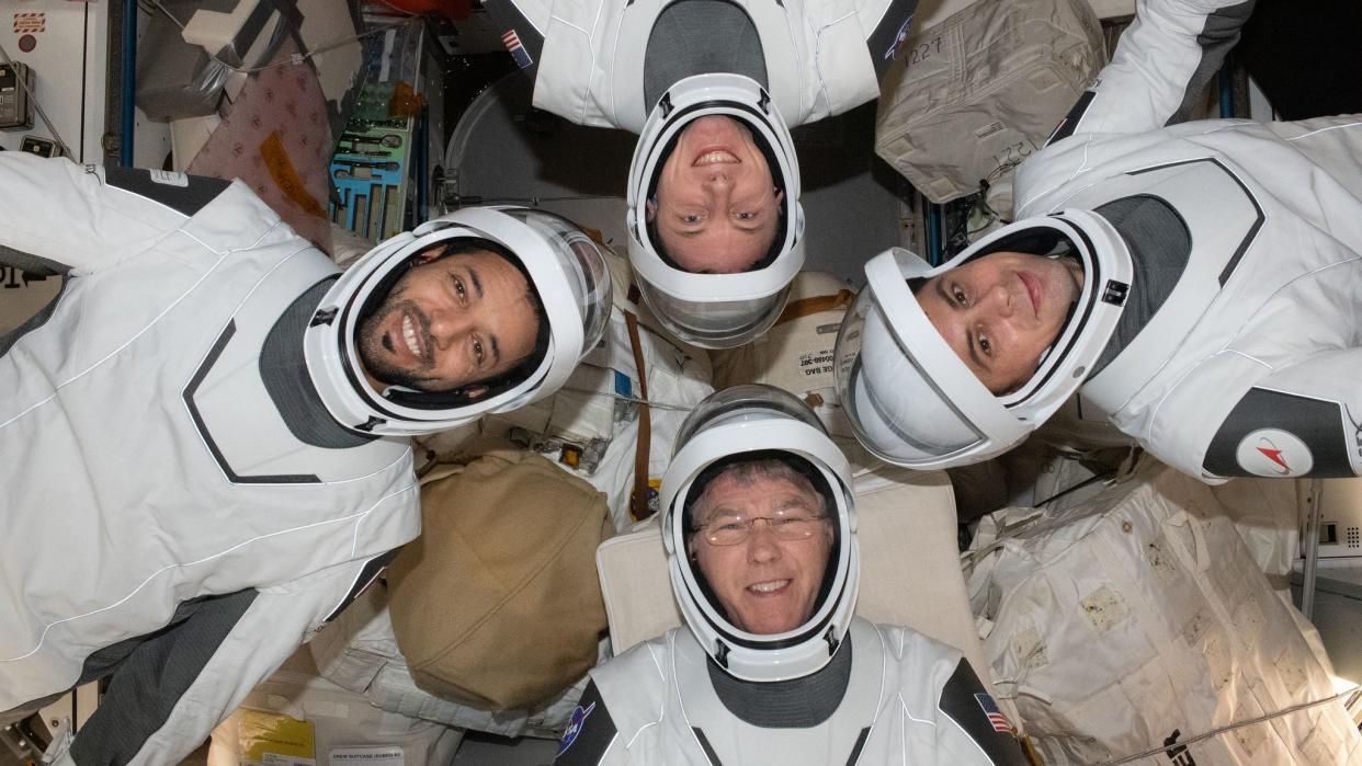
[[[1046,763],[1362,763],[1342,701],[1288,712],[1337,693],[1328,657],[1200,482],[1151,460],[1083,503],[998,512],[964,558]]]

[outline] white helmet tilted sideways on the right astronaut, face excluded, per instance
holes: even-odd
[[[989,253],[1056,248],[1083,267],[1077,301],[1031,380],[996,396],[936,331],[906,280],[930,279]],[[893,248],[866,263],[865,276],[838,332],[838,396],[868,450],[928,469],[1007,452],[1083,385],[1121,317],[1132,263],[1106,219],[1064,211],[998,229],[940,267]]]

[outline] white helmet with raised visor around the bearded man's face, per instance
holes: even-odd
[[[505,376],[477,399],[399,385],[375,389],[360,362],[360,322],[383,303],[413,256],[454,239],[493,250],[526,273],[542,310],[542,356],[531,355],[533,369]],[[610,271],[601,250],[567,219],[515,207],[463,208],[380,242],[342,273],[313,313],[304,354],[321,401],[340,424],[369,434],[428,434],[557,390],[599,343],[610,303]]]

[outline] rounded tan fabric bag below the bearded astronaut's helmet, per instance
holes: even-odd
[[[595,665],[595,548],[613,535],[605,495],[505,444],[421,479],[422,533],[388,574],[413,679],[489,710],[531,707]]]

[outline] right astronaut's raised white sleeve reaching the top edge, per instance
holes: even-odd
[[[1121,33],[1111,63],[1050,143],[1075,133],[1143,133],[1186,121],[1239,39],[1254,0],[1147,0]]]

